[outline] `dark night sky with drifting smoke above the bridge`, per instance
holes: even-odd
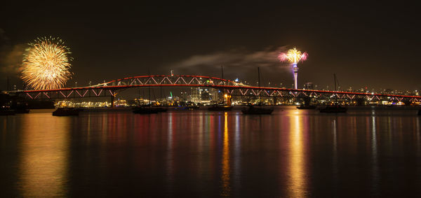
[[[62,38],[72,51],[68,81],[129,76],[200,74],[291,87],[293,75],[276,53],[296,46],[309,57],[299,64],[299,87],[419,90],[420,14],[415,5],[386,3],[156,3],[36,2],[0,6],[0,89],[17,51],[39,36]],[[13,61],[11,59],[18,59]]]

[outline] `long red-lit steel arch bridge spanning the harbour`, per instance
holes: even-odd
[[[421,101],[419,96],[397,94],[370,94],[326,90],[295,90],[280,87],[256,87],[232,80],[209,76],[135,76],[112,80],[87,87],[69,87],[55,90],[18,90],[9,92],[29,99],[69,99],[83,97],[115,97],[121,90],[133,87],[212,87],[232,96],[261,97],[316,97],[337,99],[368,99],[370,101]]]

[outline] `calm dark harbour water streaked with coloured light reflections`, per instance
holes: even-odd
[[[420,122],[370,107],[1,116],[0,197],[416,197]]]

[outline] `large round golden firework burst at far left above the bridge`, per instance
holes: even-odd
[[[60,38],[37,38],[25,50],[22,80],[35,90],[58,89],[72,76],[69,48]]]

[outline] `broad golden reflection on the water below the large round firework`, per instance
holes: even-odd
[[[18,185],[23,197],[67,194],[67,147],[71,119],[55,118],[49,113],[34,114],[22,123]]]

